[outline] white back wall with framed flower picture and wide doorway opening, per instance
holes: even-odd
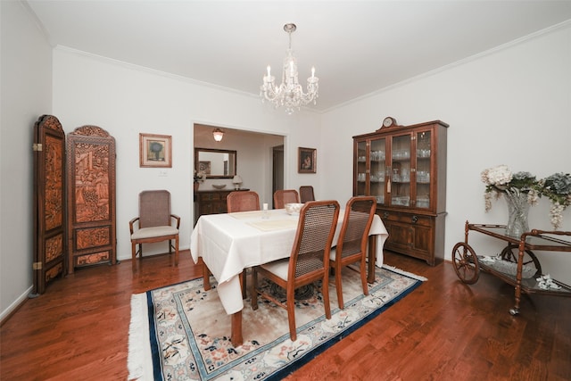
[[[53,112],[66,133],[94,124],[115,137],[118,259],[131,256],[128,220],[137,216],[137,195],[144,189],[170,191],[172,211],[181,217],[180,247],[189,247],[194,216],[194,123],[285,135],[288,162],[296,161],[301,142],[319,147],[319,115],[314,113],[288,117],[261,104],[257,96],[201,86],[62,47],[54,50]],[[141,132],[172,136],[172,168],[166,176],[160,176],[165,169],[139,168]],[[221,143],[228,145],[228,140]],[[292,168],[285,172],[285,183],[297,186],[295,164]],[[145,253],[153,252],[164,253],[165,248],[145,249]]]

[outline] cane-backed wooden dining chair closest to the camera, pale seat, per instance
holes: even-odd
[[[329,255],[338,217],[339,203],[334,200],[305,203],[300,211],[290,257],[252,268],[252,310],[258,309],[258,294],[285,308],[289,323],[289,336],[292,341],[297,339],[295,289],[320,279],[325,315],[327,319],[331,319],[328,282]],[[278,301],[275,296],[258,287],[258,275],[285,288],[285,303]]]

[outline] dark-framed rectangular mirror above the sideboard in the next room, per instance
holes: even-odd
[[[234,178],[236,151],[194,148],[194,170],[203,170],[206,178]]]

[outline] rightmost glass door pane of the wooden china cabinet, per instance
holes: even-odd
[[[416,187],[417,208],[430,208],[430,158],[431,134],[430,131],[417,132],[417,163],[416,163]]]

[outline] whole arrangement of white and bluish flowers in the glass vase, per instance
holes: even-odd
[[[547,178],[537,180],[529,172],[512,173],[507,165],[483,170],[482,181],[485,184],[485,211],[492,209],[492,197],[498,199],[502,194],[509,197],[527,195],[527,203],[535,205],[545,195],[550,199],[550,222],[554,229],[559,229],[567,206],[571,205],[571,174],[555,173]]]

